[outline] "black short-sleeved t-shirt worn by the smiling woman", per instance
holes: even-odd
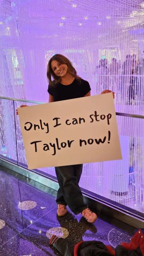
[[[91,90],[89,82],[83,79],[75,79],[72,84],[56,84],[55,87],[49,86],[48,92],[54,97],[54,101],[81,98]]]

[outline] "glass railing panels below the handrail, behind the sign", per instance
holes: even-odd
[[[1,159],[27,168],[16,109],[42,103],[0,97]],[[118,112],[116,116],[123,159],[84,164],[80,186],[89,195],[144,218],[144,116]],[[54,167],[35,172],[56,177]]]

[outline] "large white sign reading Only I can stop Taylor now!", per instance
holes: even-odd
[[[112,93],[18,108],[29,169],[121,159]]]

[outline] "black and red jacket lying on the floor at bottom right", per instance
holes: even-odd
[[[123,242],[115,249],[101,241],[81,241],[74,244],[67,239],[52,236],[52,244],[63,256],[144,256],[144,235],[138,230],[129,244]]]

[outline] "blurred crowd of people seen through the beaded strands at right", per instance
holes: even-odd
[[[144,93],[144,54],[139,58],[136,54],[129,54],[123,64],[116,58],[112,58],[110,64],[107,58],[101,59],[95,73],[100,89],[115,91],[130,105],[141,101]]]

